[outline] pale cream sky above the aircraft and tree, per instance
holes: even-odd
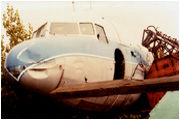
[[[1,1],[1,34],[2,14],[7,3],[19,10],[23,24],[31,23],[34,30],[62,12],[72,12],[72,1]],[[88,11],[92,7],[95,13],[115,21],[121,28],[120,38],[132,44],[141,44],[143,30],[149,25],[179,40],[179,1],[75,1],[75,11]]]

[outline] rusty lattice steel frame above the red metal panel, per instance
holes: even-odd
[[[171,55],[179,50],[179,41],[176,38],[163,34],[154,26],[148,26],[144,30],[142,45],[152,52],[155,59]]]

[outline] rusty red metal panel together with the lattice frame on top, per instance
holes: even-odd
[[[154,57],[146,79],[179,75],[179,41],[176,38],[163,34],[154,26],[149,26],[144,30],[142,45]],[[165,94],[166,92],[147,93],[152,109]]]

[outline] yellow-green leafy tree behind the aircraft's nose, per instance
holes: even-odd
[[[4,46],[4,35],[1,35],[1,77],[4,75],[4,63],[6,54],[17,44],[31,39],[33,27],[29,23],[29,29],[26,30],[22,24],[19,12],[14,12],[13,6],[7,4],[7,12],[3,14],[3,26],[6,29],[6,36],[9,38],[9,45]]]

